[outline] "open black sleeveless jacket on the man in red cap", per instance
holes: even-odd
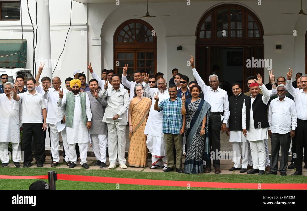
[[[267,105],[262,101],[262,94],[258,94],[253,102],[253,117],[255,129],[270,127],[268,117],[266,116]],[[249,130],[249,121],[251,113],[251,97],[245,101],[246,106],[246,129]],[[259,124],[260,123],[260,124]]]

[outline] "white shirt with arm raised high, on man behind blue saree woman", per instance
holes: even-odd
[[[227,92],[220,87],[214,91],[211,86],[207,86],[204,83],[195,68],[192,71],[198,85],[204,93],[204,100],[211,105],[211,112],[224,112],[223,123],[227,124],[230,115]]]

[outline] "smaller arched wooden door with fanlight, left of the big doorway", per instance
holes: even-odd
[[[123,22],[115,31],[113,43],[116,74],[122,74],[125,63],[129,81],[133,81],[136,70],[157,73],[157,35],[150,24],[140,19]]]

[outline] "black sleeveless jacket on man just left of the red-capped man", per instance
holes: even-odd
[[[249,96],[241,93],[238,97],[232,95],[228,98],[229,101],[229,129],[242,130],[242,107],[243,102],[248,101]]]

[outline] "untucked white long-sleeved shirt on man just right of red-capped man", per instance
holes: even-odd
[[[285,97],[282,101],[275,98],[270,103],[268,121],[272,133],[286,134],[297,127],[295,103]]]

